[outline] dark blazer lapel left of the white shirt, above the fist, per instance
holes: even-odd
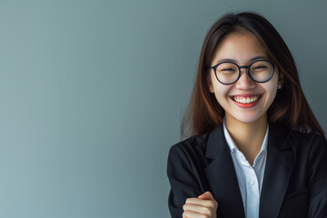
[[[205,168],[205,175],[223,217],[243,218],[244,208],[230,148],[218,126],[208,135],[205,156],[213,161]]]

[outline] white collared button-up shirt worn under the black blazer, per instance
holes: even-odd
[[[238,150],[223,122],[223,133],[231,149],[233,165],[240,186],[246,218],[259,218],[260,193],[263,186],[263,174],[267,160],[268,131],[269,125],[267,125],[262,149],[255,157],[253,165],[251,165],[243,153]]]

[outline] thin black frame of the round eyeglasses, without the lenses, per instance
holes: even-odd
[[[253,79],[253,76],[252,76],[252,74],[251,74],[251,72],[250,72],[250,67],[251,67],[254,63],[257,63],[257,62],[260,62],[260,61],[268,62],[269,64],[272,65],[272,74],[271,74],[271,76],[269,77],[269,79],[267,79],[267,80],[265,80],[265,81],[256,81],[255,79]],[[217,78],[218,82],[221,83],[221,84],[225,84],[225,83],[223,83],[222,81],[220,81],[220,80],[218,79],[218,76],[217,76],[216,70],[217,70],[217,67],[218,67],[220,64],[224,64],[224,63],[235,64],[235,63],[233,63],[233,62],[228,62],[228,61],[227,61],[227,62],[221,62],[221,63],[219,63],[219,64],[215,64],[215,65],[213,65],[213,66],[210,66],[210,69],[213,68],[214,75],[215,75],[215,77]],[[235,64],[235,65],[236,65],[237,68],[239,69],[239,74],[238,74],[236,80],[235,80],[233,83],[229,83],[229,84],[234,84],[234,83],[236,83],[236,82],[240,79],[241,74],[242,74],[242,69],[243,69],[243,68],[246,69],[247,74],[250,76],[250,78],[251,78],[255,83],[260,83],[260,84],[266,83],[266,82],[268,82],[269,80],[272,79],[272,76],[273,76],[273,74],[274,74],[274,68],[275,68],[275,65],[276,65],[276,64],[274,64],[273,62],[268,61],[268,60],[256,60],[256,61],[254,61],[253,63],[251,63],[251,64],[249,64],[249,65],[243,65],[243,66],[240,66],[240,65],[238,65],[238,64]]]

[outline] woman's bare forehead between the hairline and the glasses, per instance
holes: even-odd
[[[264,45],[252,32],[237,32],[223,38],[213,54],[213,64],[224,59],[231,59],[238,64],[248,64],[255,56],[267,57]]]

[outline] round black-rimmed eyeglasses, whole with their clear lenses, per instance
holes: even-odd
[[[250,78],[256,83],[265,83],[272,78],[275,64],[267,60],[258,60],[249,65],[239,66],[233,62],[222,62],[210,66],[221,84],[233,84],[242,74],[242,68],[247,70]]]

